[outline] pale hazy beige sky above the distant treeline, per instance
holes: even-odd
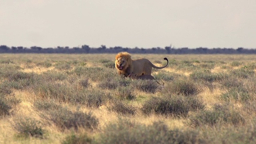
[[[0,45],[256,48],[256,0],[0,0]]]

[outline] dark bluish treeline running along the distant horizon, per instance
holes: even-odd
[[[138,54],[256,54],[256,49],[247,48],[172,48],[172,46],[166,46],[165,48],[123,48],[121,46],[107,48],[104,45],[101,45],[99,48],[90,48],[88,45],[73,48],[68,46],[58,46],[57,48],[42,48],[38,46],[32,46],[30,48],[23,46],[0,46],[0,53],[97,54],[118,53],[124,51]]]

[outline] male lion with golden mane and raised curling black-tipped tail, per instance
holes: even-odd
[[[165,66],[158,67],[146,58],[132,60],[131,55],[128,52],[119,52],[116,55],[115,64],[118,74],[122,74],[127,77],[133,72],[134,74],[141,76],[151,75],[152,67],[157,69],[165,68],[169,61],[167,58],[164,58],[164,60],[167,60],[167,64]]]

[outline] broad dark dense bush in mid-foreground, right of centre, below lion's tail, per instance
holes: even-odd
[[[185,104],[184,100],[177,96],[170,98],[152,97],[146,101],[142,106],[144,114],[162,114],[173,116],[187,116],[190,106]]]

